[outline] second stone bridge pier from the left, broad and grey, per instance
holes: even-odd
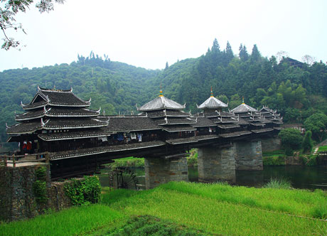
[[[235,183],[235,144],[198,149],[198,180],[203,183]]]

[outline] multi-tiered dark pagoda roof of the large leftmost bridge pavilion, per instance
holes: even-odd
[[[108,120],[96,117],[100,109],[88,109],[90,100],[85,102],[73,94],[73,90],[55,90],[38,87],[33,100],[21,106],[26,110],[23,114],[16,114],[16,122],[7,127],[7,134],[41,134],[41,130],[68,130],[106,127]],[[50,136],[50,135],[49,135]],[[58,134],[56,134],[58,136]],[[50,139],[50,138],[49,138]]]

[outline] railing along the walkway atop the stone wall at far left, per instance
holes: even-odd
[[[44,156],[44,157],[43,157]],[[48,152],[39,154],[28,154],[28,155],[0,155],[0,166],[12,166],[16,167],[18,163],[33,163],[33,162],[45,162],[50,161]]]

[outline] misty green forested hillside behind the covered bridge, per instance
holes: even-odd
[[[192,112],[210,95],[210,87],[233,108],[242,102],[253,107],[268,105],[282,112],[286,122],[303,122],[321,111],[327,113],[327,66],[307,65],[291,58],[263,58],[256,45],[252,52],[241,45],[237,55],[229,43],[220,49],[218,41],[205,55],[178,61],[164,70],[146,70],[90,53],[73,63],[5,70],[0,73],[0,132],[6,141],[5,123],[14,124],[14,112],[23,112],[40,87],[70,89],[82,99],[92,97],[92,108],[105,114],[136,112],[139,106],[159,94],[184,103]]]

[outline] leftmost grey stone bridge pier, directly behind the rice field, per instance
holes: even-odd
[[[146,189],[170,181],[188,181],[188,161],[182,157],[144,158]]]

